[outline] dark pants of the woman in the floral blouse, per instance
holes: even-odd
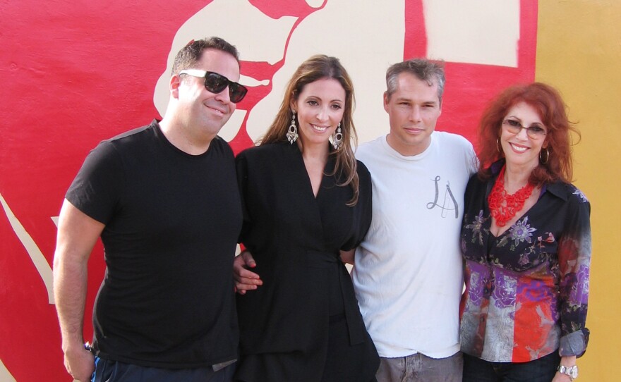
[[[488,362],[464,354],[464,382],[550,382],[560,363],[558,352],[530,362]]]

